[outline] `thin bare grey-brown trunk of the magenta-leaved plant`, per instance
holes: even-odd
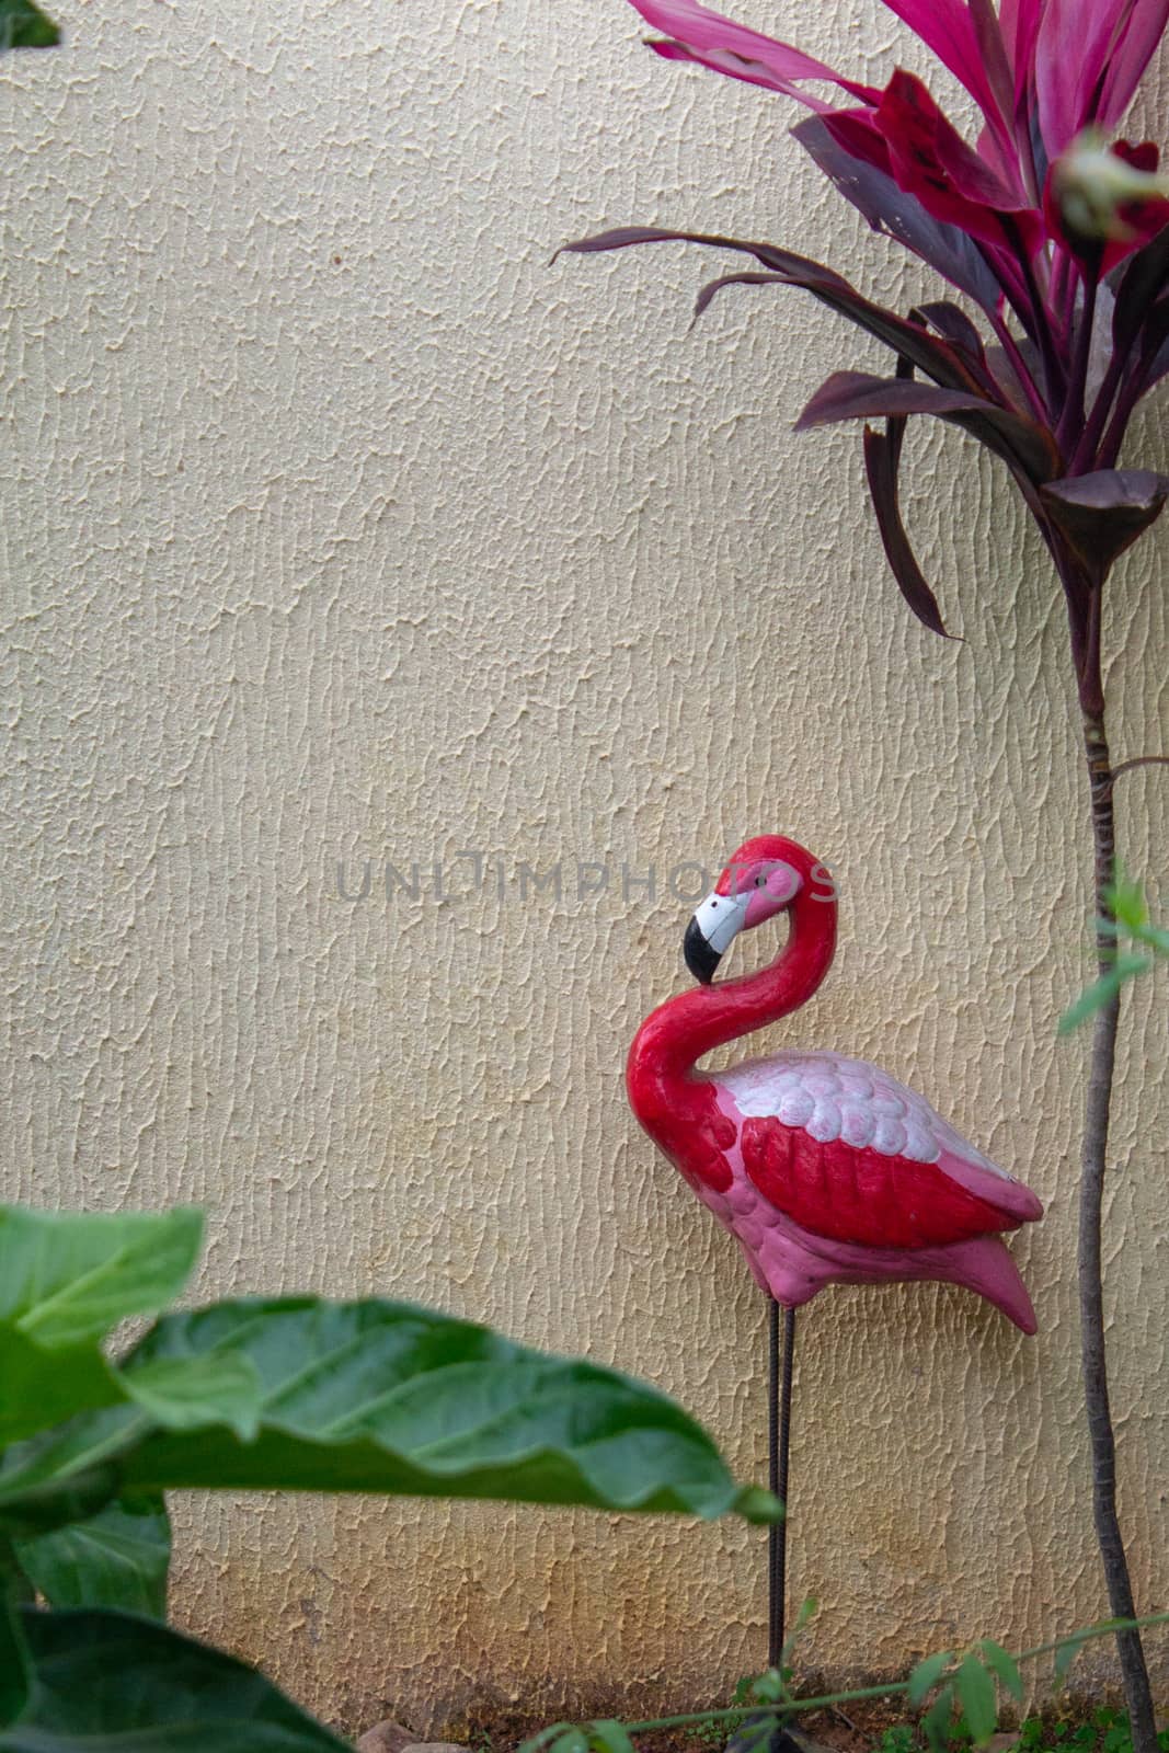
[[[1111,919],[1106,887],[1115,875],[1116,824],[1113,813],[1113,768],[1104,729],[1104,712],[1085,712],[1083,735],[1088,757],[1088,784],[1092,789],[1092,840],[1095,848],[1095,908],[1101,919]],[[1106,973],[1116,954],[1115,938],[1099,931],[1095,954],[1101,973]],[[1083,1124],[1083,1157],[1080,1178],[1080,1346],[1083,1360],[1083,1395],[1092,1439],[1092,1513],[1095,1537],[1104,1564],[1104,1581],[1113,1618],[1136,1618],[1129,1560],[1116,1516],[1116,1437],[1108,1402],[1108,1359],[1104,1348],[1104,1269],[1101,1259],[1101,1210],[1104,1201],[1104,1169],[1108,1160],[1108,1122],[1116,1069],[1116,1029],[1120,1024],[1120,996],[1113,997],[1095,1017],[1092,1036],[1092,1066],[1088,1073],[1088,1101]],[[1134,1753],[1157,1753],[1157,1725],[1153,1695],[1148,1685],[1144,1648],[1139,1632],[1118,1632],[1120,1671],[1123,1674],[1129,1723]]]

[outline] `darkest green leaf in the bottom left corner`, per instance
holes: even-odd
[[[126,1613],[23,1613],[35,1686],[4,1753],[345,1753],[230,1655]]]

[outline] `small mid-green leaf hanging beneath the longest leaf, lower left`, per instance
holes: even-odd
[[[28,1581],[51,1608],[123,1608],[166,1616],[170,1518],[161,1497],[126,1497],[39,1539],[14,1541]]]

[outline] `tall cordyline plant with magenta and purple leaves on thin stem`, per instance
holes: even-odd
[[[1169,373],[1169,186],[1157,145],[1108,142],[1162,40],[1169,0],[1001,0],[997,11],[992,0],[885,0],[969,93],[980,116],[973,145],[903,68],[875,88],[696,0],[633,4],[662,33],[650,47],[666,60],[696,61],[803,103],[811,114],[792,131],[820,170],[876,231],[969,302],[962,309],[943,298],[901,316],[804,256],[699,231],[629,228],[570,245],[689,240],[740,251],[755,266],[705,286],[698,312],[727,286],[799,286],[890,349],[892,375],[836,372],[797,424],[883,422],[864,428],[873,510],[897,586],[934,633],[945,633],[941,612],[897,505],[906,421],[950,421],[1006,465],[1067,603],[1104,924],[1097,959],[1108,976],[1116,954],[1113,785],[1122,768],[1108,747],[1101,607],[1116,557],[1169,494],[1164,475],[1118,466],[1137,403]],[[831,98],[825,88],[834,88]],[[1095,1020],[1078,1264],[1095,1530],[1113,1615],[1130,1620],[1101,1285],[1118,1015],[1116,987]],[[1136,1753],[1153,1753],[1139,1634],[1118,1643]]]

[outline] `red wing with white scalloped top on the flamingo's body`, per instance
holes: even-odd
[[[859,1059],[778,1054],[717,1073],[743,1166],[803,1229],[869,1248],[931,1248],[1043,1215],[924,1096]]]

